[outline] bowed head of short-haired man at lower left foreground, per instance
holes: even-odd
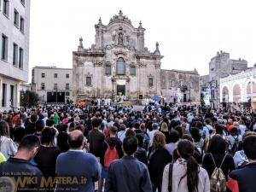
[[[27,135],[21,139],[16,155],[19,155],[21,159],[31,160],[37,154],[39,147],[39,138],[34,135]]]

